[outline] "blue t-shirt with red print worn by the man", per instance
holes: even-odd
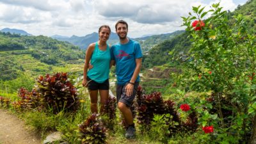
[[[111,60],[116,62],[116,76],[117,84],[125,85],[128,83],[136,68],[136,59],[142,58],[140,44],[134,40],[129,39],[127,44],[114,44],[111,47]],[[140,76],[136,81],[140,81]]]

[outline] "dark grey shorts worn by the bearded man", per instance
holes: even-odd
[[[116,98],[117,98],[117,102],[123,102],[124,104],[126,104],[127,107],[132,106],[132,101],[135,98],[138,86],[139,86],[140,82],[135,82],[134,83],[134,87],[133,87],[133,93],[130,97],[128,97],[126,95],[126,90],[125,90],[125,86],[128,84],[126,83],[124,86],[121,85],[116,85]]]

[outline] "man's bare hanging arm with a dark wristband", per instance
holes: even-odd
[[[135,70],[134,70],[134,72],[132,74],[132,78],[130,80],[130,83],[127,84],[127,86],[125,87],[127,96],[131,96],[132,95],[134,84],[131,84],[131,83],[135,83],[138,75],[140,74],[142,58],[136,58],[135,61],[136,61],[136,68],[135,68]]]

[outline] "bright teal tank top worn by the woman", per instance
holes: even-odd
[[[106,51],[101,51],[98,42],[96,42],[91,58],[93,68],[87,72],[87,76],[97,83],[104,83],[109,78],[109,62],[110,50],[108,44]]]

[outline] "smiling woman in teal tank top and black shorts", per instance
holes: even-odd
[[[111,33],[109,26],[99,28],[99,41],[90,44],[84,62],[83,86],[88,87],[91,98],[91,112],[98,113],[98,92],[100,93],[100,113],[104,112],[104,104],[109,96],[110,50],[107,40]],[[88,70],[90,63],[93,68]]]

